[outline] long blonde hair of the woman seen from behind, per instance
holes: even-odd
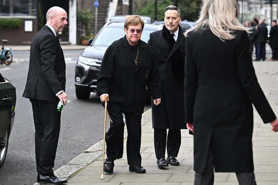
[[[235,17],[236,0],[204,0],[200,18],[196,25],[185,32],[185,36],[190,31],[197,31],[198,28],[209,27],[213,34],[220,40],[232,40],[234,30],[245,30]]]

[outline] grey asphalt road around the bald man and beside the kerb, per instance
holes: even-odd
[[[75,96],[74,70],[81,52],[64,51],[69,101],[62,111],[54,171],[103,139],[104,109],[99,97],[91,93],[88,100],[78,100]],[[34,184],[37,176],[32,106],[29,99],[22,97],[28,73],[29,51],[14,51],[14,61],[10,66],[0,66],[0,73],[13,83],[17,92],[14,126],[6,161],[0,169],[1,185]],[[151,104],[147,102],[145,111],[149,108]]]

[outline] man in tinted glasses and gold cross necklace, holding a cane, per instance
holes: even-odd
[[[109,95],[107,111],[113,122],[105,135],[107,158],[104,172],[113,173],[114,160],[122,158],[123,134],[127,125],[127,162],[129,171],[145,173],[141,166],[141,118],[146,85],[154,105],[160,104],[161,90],[156,59],[146,42],[140,40],[144,21],[130,16],[124,24],[125,36],[106,50],[97,80],[96,95],[102,102]]]

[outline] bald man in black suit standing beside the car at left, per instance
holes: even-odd
[[[67,24],[67,12],[52,7],[46,13],[46,25],[31,42],[30,62],[23,97],[32,103],[35,123],[37,182],[64,184],[67,180],[54,176],[53,166],[58,144],[61,112],[59,100],[67,103],[65,93],[65,59],[57,33]]]

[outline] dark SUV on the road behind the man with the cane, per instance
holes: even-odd
[[[158,25],[145,24],[141,40],[148,42],[150,33],[157,30]],[[124,23],[108,22],[94,40],[88,41],[89,46],[81,53],[75,66],[75,92],[78,99],[88,99],[91,92],[96,92],[98,71],[104,53],[112,42],[123,36]]]

